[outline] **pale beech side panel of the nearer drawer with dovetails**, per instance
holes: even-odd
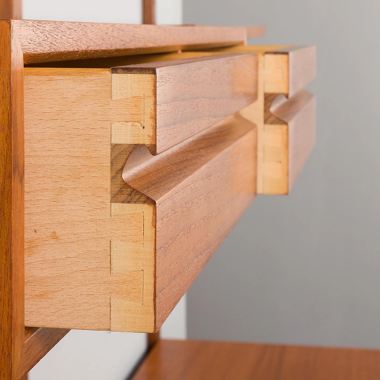
[[[135,119],[142,102],[112,101],[109,70],[47,70],[25,69],[24,78],[25,324],[107,330],[118,300],[141,309],[142,271],[152,271],[147,261],[117,274],[110,267],[114,244],[141,251],[154,228],[153,206],[125,205],[115,218],[110,204],[111,123]],[[152,310],[152,292],[149,302]],[[141,329],[133,323],[140,318],[129,331]]]

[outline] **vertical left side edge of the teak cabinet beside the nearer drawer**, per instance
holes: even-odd
[[[0,379],[16,377],[24,345],[23,55],[0,21]]]

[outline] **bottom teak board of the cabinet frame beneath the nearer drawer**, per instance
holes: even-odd
[[[25,328],[25,343],[17,369],[17,379],[27,373],[43,358],[70,330],[38,327]]]

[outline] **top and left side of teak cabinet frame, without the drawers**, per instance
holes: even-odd
[[[16,17],[17,14],[13,16]],[[163,27],[26,20],[0,20],[0,31],[2,56],[0,62],[2,171],[0,174],[1,204],[4,211],[0,236],[2,247],[0,378],[8,380],[16,378],[20,360],[21,363],[27,360],[28,355],[26,351],[22,351],[24,346],[22,64],[231,46],[244,44],[247,31],[245,28],[228,27]],[[41,334],[44,333],[43,329],[40,331]],[[46,350],[53,347],[55,342],[55,339],[46,341]]]

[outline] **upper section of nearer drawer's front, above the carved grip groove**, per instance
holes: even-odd
[[[223,54],[112,68],[112,99],[134,97],[143,99],[143,113],[115,126],[113,139],[141,133],[158,154],[255,101],[257,57]]]

